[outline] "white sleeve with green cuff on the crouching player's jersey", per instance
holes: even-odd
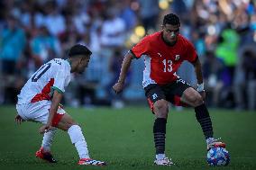
[[[65,87],[68,86],[70,82],[69,69],[67,69],[63,64],[55,69],[58,69],[58,71],[54,76],[54,84],[52,85],[52,88],[62,94],[65,92]]]

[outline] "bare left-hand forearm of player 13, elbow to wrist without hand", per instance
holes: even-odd
[[[124,80],[129,70],[129,67],[131,66],[132,60],[133,60],[133,54],[131,52],[128,52],[123,58],[121,72],[118,79],[119,83],[124,84]]]

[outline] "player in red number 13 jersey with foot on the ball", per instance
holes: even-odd
[[[119,79],[113,86],[114,92],[120,93],[123,90],[125,76],[133,58],[144,57],[145,69],[142,86],[150,103],[151,111],[156,117],[153,126],[156,148],[154,163],[160,166],[174,165],[171,159],[165,156],[169,102],[195,108],[197,121],[206,137],[207,149],[225,147],[223,142],[213,137],[212,121],[204,103],[206,93],[197,51],[191,42],[179,34],[179,27],[180,22],[176,14],[165,15],[162,30],[144,37],[125,55]],[[197,90],[176,74],[184,60],[195,67]]]

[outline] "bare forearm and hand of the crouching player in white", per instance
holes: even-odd
[[[53,93],[53,97],[51,99],[48,121],[45,125],[41,126],[41,128],[39,130],[41,134],[43,134],[43,133],[52,129],[52,126],[51,126],[52,125],[52,120],[53,120],[54,114],[58,110],[61,98],[62,98],[62,94],[60,94],[57,90],[55,90],[54,93]]]

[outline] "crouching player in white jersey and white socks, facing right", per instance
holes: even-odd
[[[40,150],[36,157],[55,163],[50,146],[56,130],[69,133],[72,144],[77,148],[80,160],[78,165],[105,166],[105,162],[89,157],[87,142],[81,128],[60,105],[65,87],[69,85],[71,73],[83,73],[92,52],[86,46],[77,44],[69,50],[69,58],[54,58],[42,65],[23,86],[16,104],[15,121],[37,121],[43,126]]]

